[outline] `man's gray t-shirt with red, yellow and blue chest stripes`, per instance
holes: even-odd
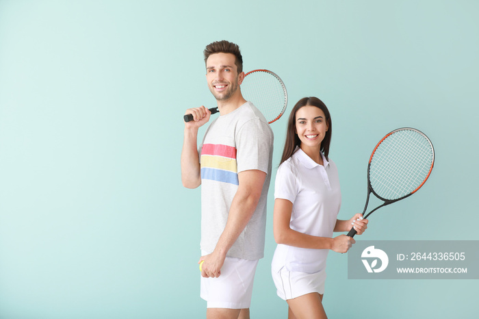
[[[261,198],[244,231],[226,254],[242,259],[264,255],[266,200],[271,179],[273,132],[263,114],[246,102],[209,125],[198,152],[201,165],[201,250],[213,252],[226,227],[238,188],[238,173],[261,170]]]

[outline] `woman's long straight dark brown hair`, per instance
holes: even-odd
[[[326,116],[326,123],[328,124],[328,131],[324,135],[324,139],[321,142],[321,149],[324,157],[328,159],[329,155],[329,144],[331,143],[331,133],[333,132],[333,125],[331,123],[331,115],[329,114],[328,107],[318,99],[317,97],[304,97],[294,105],[291,114],[289,114],[289,118],[287,120],[287,131],[286,131],[286,142],[285,142],[285,149],[283,149],[283,156],[281,157],[280,165],[285,162],[286,159],[291,157],[296,150],[296,146],[300,146],[301,141],[296,134],[296,112],[306,105],[319,107],[322,112],[324,112],[324,116]],[[329,159],[328,159],[329,160]]]

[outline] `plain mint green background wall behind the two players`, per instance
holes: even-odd
[[[478,1],[0,1],[0,318],[205,318],[200,190],[181,186],[186,108],[213,106],[203,49],[237,42],[287,112],[333,116],[340,218],[361,212],[367,159],[417,127],[437,161],[364,240],[477,240]],[[211,107],[210,106],[210,107]],[[286,117],[272,125],[279,164]],[[202,131],[203,133],[203,131]],[[274,175],[273,175],[274,180]],[[253,318],[286,318],[266,257]],[[361,238],[358,238],[361,240]],[[331,253],[330,318],[475,318],[476,281],[354,281]]]

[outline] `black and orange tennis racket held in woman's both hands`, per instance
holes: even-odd
[[[367,164],[366,212],[370,194],[384,201],[376,209],[411,196],[422,188],[434,166],[434,146],[429,138],[417,129],[405,127],[387,134],[372,151]],[[348,236],[354,237],[352,228]]]

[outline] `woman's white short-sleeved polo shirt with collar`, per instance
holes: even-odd
[[[322,154],[321,154],[322,155]],[[293,203],[290,227],[301,233],[333,236],[341,207],[339,176],[334,162],[322,155],[324,165],[298,149],[278,168],[274,199]],[[328,249],[298,248],[279,244],[274,251],[272,270],[283,266],[290,271],[314,273],[326,268]]]

